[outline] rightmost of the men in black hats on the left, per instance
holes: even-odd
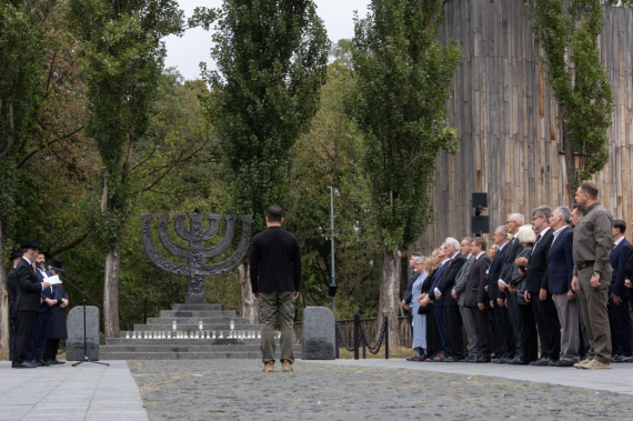
[[[49,271],[52,275],[63,272],[63,263],[61,259],[53,259],[49,265]],[[68,330],[66,328],[66,308],[68,307],[68,292],[63,284],[53,284],[54,301],[51,307],[51,322],[48,331],[47,344],[44,348],[43,361],[44,363],[54,365],[63,364],[66,361],[57,360],[57,350],[59,349],[59,341],[68,339]]]

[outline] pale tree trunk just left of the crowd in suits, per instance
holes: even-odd
[[[389,344],[400,345],[398,330],[398,308],[400,307],[400,267],[402,252],[384,251],[382,261],[382,280],[380,283],[379,328],[382,327],[383,314],[389,317]]]

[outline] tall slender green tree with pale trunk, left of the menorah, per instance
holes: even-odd
[[[105,251],[103,327],[105,337],[118,337],[121,235],[139,190],[134,147],[145,139],[157,96],[161,40],[181,31],[182,12],[175,0],[70,0],[69,18],[83,42],[86,132],[102,164],[100,206],[90,225]]]

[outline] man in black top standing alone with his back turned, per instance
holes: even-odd
[[[268,229],[253,239],[251,245],[251,287],[253,299],[260,301],[263,371],[274,371],[274,317],[281,325],[281,362],[283,371],[294,363],[294,300],[301,287],[301,250],[299,241],[281,228],[283,211],[271,206],[265,211]]]

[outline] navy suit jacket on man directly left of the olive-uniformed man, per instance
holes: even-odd
[[[559,234],[556,241],[550,247],[547,254],[547,271],[545,280],[547,291],[553,294],[563,294],[572,288],[572,277],[574,271],[574,231],[565,228]]]

